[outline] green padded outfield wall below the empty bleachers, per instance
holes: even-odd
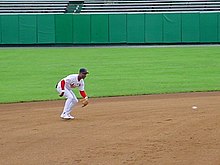
[[[0,15],[0,44],[210,42],[220,13]]]

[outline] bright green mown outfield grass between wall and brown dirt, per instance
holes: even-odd
[[[0,103],[59,99],[80,67],[90,97],[220,90],[220,47],[0,49]],[[78,91],[76,91],[77,96]]]

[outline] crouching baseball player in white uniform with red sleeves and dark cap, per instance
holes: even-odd
[[[71,116],[71,112],[72,108],[78,102],[78,99],[76,98],[76,95],[73,93],[71,88],[79,89],[80,95],[83,97],[82,107],[88,105],[88,96],[84,90],[84,79],[88,73],[89,72],[86,68],[81,68],[78,74],[68,75],[57,83],[56,89],[59,93],[59,96],[64,96],[66,98],[63,112],[60,115],[61,118],[74,119],[74,117]]]

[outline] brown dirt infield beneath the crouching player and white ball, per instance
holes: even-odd
[[[63,104],[0,104],[0,164],[220,164],[220,92],[90,99],[66,121]]]

